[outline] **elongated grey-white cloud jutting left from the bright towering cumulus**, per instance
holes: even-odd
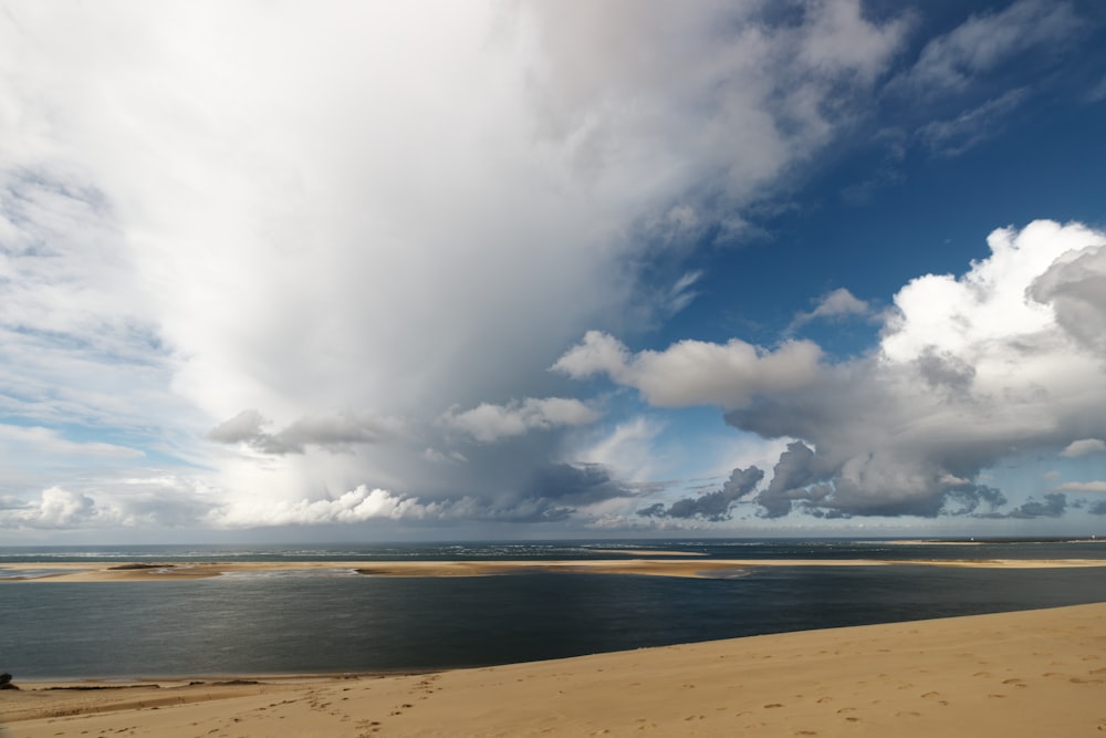
[[[606,374],[659,407],[732,407],[760,394],[810,386],[821,357],[810,341],[787,341],[769,351],[737,339],[724,345],[681,341],[662,352],[632,355],[617,339],[588,331],[553,368],[577,380]]]

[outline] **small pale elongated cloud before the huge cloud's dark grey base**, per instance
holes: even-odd
[[[441,417],[441,423],[462,430],[482,443],[491,443],[510,436],[521,436],[532,429],[560,426],[586,425],[594,423],[598,413],[580,402],[564,397],[528,397],[507,405],[481,403],[477,407],[458,413],[450,410]]]

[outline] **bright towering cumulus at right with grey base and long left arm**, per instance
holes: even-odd
[[[589,333],[557,368],[605,373],[657,405],[712,403],[742,430],[795,439],[757,498],[769,517],[795,507],[821,516],[993,510],[1005,500],[978,484],[982,469],[1106,433],[1104,355],[1063,316],[1065,300],[1094,294],[1084,287],[1097,263],[1088,257],[1106,235],[1036,221],[988,242],[991,256],[964,274],[904,287],[879,350],[858,360],[831,365],[813,344],[768,353],[740,342],[632,355]],[[1061,272],[1071,279],[1050,279]],[[781,365],[762,374],[769,358]],[[1015,512],[1060,516],[1062,497]]]

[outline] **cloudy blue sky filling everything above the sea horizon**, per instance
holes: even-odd
[[[1097,0],[0,0],[0,543],[1106,534]]]

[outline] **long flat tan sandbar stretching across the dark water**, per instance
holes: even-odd
[[[33,561],[0,563],[0,584],[34,582],[156,582],[226,575],[310,573],[362,576],[494,576],[519,573],[633,574],[717,579],[769,567],[967,567],[1072,569],[1106,567],[1106,559],[580,559],[521,561]],[[19,575],[28,572],[28,575]]]

